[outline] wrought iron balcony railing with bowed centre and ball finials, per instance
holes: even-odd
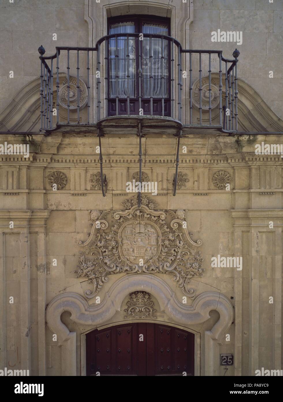
[[[169,36],[141,35],[107,35],[95,47],[56,47],[52,56],[40,46],[41,129],[158,116],[181,128],[237,131],[239,51],[230,60],[218,50],[182,49]]]

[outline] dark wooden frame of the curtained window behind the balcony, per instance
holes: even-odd
[[[110,17],[107,18],[107,33],[109,34],[109,29],[110,29],[110,25],[113,23],[119,23],[119,22],[127,22],[127,21],[132,21],[135,24],[135,33],[142,33],[142,25],[143,23],[152,23],[152,24],[166,24],[168,27],[168,36],[170,36],[170,18],[166,18],[166,17],[160,17],[157,18],[156,16],[149,16],[149,15],[137,15],[137,14],[133,14],[133,15],[129,15],[129,16],[115,16],[115,17]],[[136,80],[136,96],[135,98],[129,98],[130,103],[134,103],[134,111],[130,112],[130,115],[138,115],[139,114],[139,101],[138,101],[138,96],[139,96],[139,88],[138,88],[138,65],[139,65],[139,60],[138,60],[138,38],[135,39],[135,62],[136,62],[136,72],[135,72],[135,80]],[[107,77],[110,76],[110,63],[109,63],[109,42],[108,42],[108,49],[107,49],[107,56],[108,56],[108,62],[107,62]],[[165,116],[170,116],[171,115],[171,63],[170,63],[170,59],[171,59],[171,43],[168,43],[168,98],[164,98],[164,115]],[[142,83],[143,84],[143,83]],[[143,88],[142,88],[142,92],[143,92]],[[108,91],[107,91],[107,103],[108,103],[108,116],[115,116],[116,115],[116,111],[113,112],[111,111],[111,103],[113,104],[115,98],[110,98],[110,89],[109,89],[109,85],[108,85]],[[161,105],[161,98],[153,98],[153,102],[154,103],[159,103]],[[126,104],[127,103],[127,98],[119,98],[119,105],[121,105],[121,103]],[[142,97],[142,108],[146,103],[150,103],[150,98],[144,98]],[[159,105],[159,106],[160,106]],[[150,115],[150,111],[145,111],[144,109],[144,115]],[[118,114],[125,114],[125,113],[118,113]],[[161,115],[160,113],[154,113],[157,115]]]

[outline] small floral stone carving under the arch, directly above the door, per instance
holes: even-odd
[[[156,309],[154,307],[154,302],[151,300],[151,296],[147,292],[136,291],[130,293],[130,299],[127,301],[127,308],[124,310],[127,313],[124,318],[128,318],[129,316],[133,316],[133,318],[153,318],[156,320]]]

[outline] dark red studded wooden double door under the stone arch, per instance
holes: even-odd
[[[194,334],[172,326],[116,325],[86,343],[87,375],[194,375]]]

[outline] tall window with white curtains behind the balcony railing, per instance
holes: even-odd
[[[109,18],[108,33],[169,36],[169,19],[153,19],[148,16]],[[109,39],[109,115],[126,115],[128,109],[130,115],[139,114],[139,98],[144,115],[170,115],[169,45],[167,39],[155,37],[144,37],[142,41],[131,36]],[[139,63],[142,69],[140,86]]]

